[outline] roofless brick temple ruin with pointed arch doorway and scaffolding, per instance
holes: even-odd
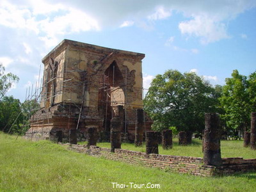
[[[143,109],[141,63],[145,54],[63,40],[47,56],[40,109],[30,119],[26,138],[68,141],[70,130],[86,140],[97,129],[109,140],[111,119],[122,115],[122,139],[133,141],[136,110]],[[143,129],[152,122],[143,116]]]

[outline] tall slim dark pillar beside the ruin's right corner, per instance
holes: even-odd
[[[135,140],[134,145],[139,147],[143,144],[143,109],[136,109],[136,125],[135,125]]]

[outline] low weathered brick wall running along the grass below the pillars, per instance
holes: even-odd
[[[166,156],[160,154],[146,154],[126,149],[116,148],[115,153],[110,148],[83,145],[70,145],[71,150],[86,153],[90,156],[104,157],[128,164],[146,166],[148,168],[161,168],[179,173],[189,173],[199,176],[228,175],[241,172],[256,172],[256,159],[243,159],[243,157],[222,158],[222,166],[204,165],[201,157]]]

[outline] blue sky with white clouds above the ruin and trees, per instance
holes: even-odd
[[[145,53],[145,88],[168,69],[224,84],[256,69],[255,20],[255,0],[1,0],[0,62],[20,77],[8,95],[21,101],[64,38]]]

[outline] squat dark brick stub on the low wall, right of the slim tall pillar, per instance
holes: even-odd
[[[146,154],[158,154],[157,131],[146,131]]]

